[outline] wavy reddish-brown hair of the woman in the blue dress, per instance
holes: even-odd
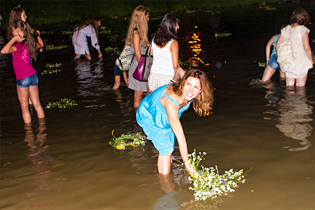
[[[192,68],[177,83],[170,85],[170,90],[178,96],[183,95],[183,88],[187,78],[193,77],[200,81],[201,92],[193,99],[193,108],[198,116],[206,116],[212,109],[214,103],[214,91],[211,82],[201,70]]]

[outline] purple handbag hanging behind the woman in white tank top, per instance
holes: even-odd
[[[151,39],[151,42],[152,42],[152,39]],[[132,74],[132,77],[140,82],[147,82],[150,75],[150,69],[153,63],[153,55],[150,54],[151,42],[147,48],[146,54],[141,55],[139,63],[137,67],[135,68],[134,73]],[[149,51],[149,48],[150,48],[150,51]],[[148,51],[149,51],[149,54],[148,54]]]

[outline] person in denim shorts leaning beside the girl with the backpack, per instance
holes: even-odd
[[[279,63],[277,62],[277,54],[275,51],[275,46],[279,39],[280,34],[275,34],[271,37],[266,45],[266,63],[267,66],[265,67],[265,71],[263,74],[263,78],[261,81],[266,82],[271,79],[272,75],[279,69],[280,78],[285,78],[285,73],[280,70]],[[270,55],[270,48],[273,45],[273,49]]]

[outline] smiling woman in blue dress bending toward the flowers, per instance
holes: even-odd
[[[136,120],[159,152],[159,173],[170,172],[175,136],[186,169],[191,174],[196,173],[187,161],[186,138],[180,122],[182,113],[189,108],[192,101],[199,116],[207,115],[214,102],[211,83],[206,75],[196,68],[187,71],[178,82],[159,87],[139,104]]]

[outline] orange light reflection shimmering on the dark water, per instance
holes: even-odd
[[[195,26],[197,28],[197,26]],[[201,44],[200,44],[200,31],[197,32],[191,32],[186,31],[186,36],[183,37],[183,42],[187,43],[188,51],[192,52],[192,56],[188,58],[187,61],[192,62],[193,66],[199,66],[200,63],[204,64],[203,57],[200,56],[202,51]],[[205,63],[204,65],[209,65],[208,63]]]

